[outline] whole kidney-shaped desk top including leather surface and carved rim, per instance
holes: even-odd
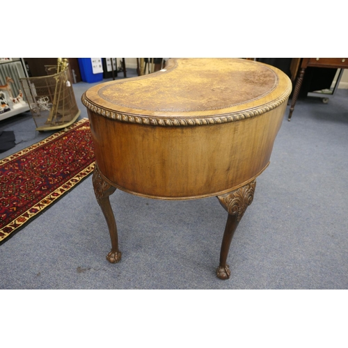
[[[93,86],[82,102],[124,122],[197,124],[259,115],[282,104],[290,91],[290,79],[270,65],[239,58],[171,58],[159,72]]]

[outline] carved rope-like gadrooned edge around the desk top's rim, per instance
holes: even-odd
[[[118,113],[108,109],[103,109],[97,104],[94,104],[86,97],[86,93],[82,95],[81,102],[86,106],[87,109],[93,113],[104,116],[106,118],[111,118],[112,120],[118,120],[120,122],[137,123],[139,125],[154,125],[154,126],[200,126],[200,125],[215,125],[219,123],[235,122],[239,120],[244,120],[246,118],[253,118],[255,116],[262,115],[262,113],[267,113],[278,106],[283,104],[285,100],[289,97],[292,88],[287,88],[285,93],[281,95],[277,100],[264,104],[259,108],[252,109],[245,112],[229,113],[221,116],[212,117],[202,117],[202,118],[154,118],[150,116],[134,116],[127,113]]]

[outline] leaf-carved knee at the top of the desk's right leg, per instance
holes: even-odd
[[[237,215],[237,221],[240,221],[248,205],[253,203],[256,180],[239,187],[239,189],[217,196],[219,202],[230,215]]]

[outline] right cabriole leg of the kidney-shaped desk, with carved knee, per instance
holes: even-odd
[[[224,280],[230,278],[230,267],[226,263],[228,251],[230,251],[232,237],[237,229],[239,221],[241,221],[248,205],[251,205],[253,202],[255,187],[256,180],[253,180],[253,182],[239,187],[239,189],[235,191],[217,196],[221,205],[228,212],[228,219],[221,244],[220,264],[218,269],[216,269],[216,275],[220,279]]]

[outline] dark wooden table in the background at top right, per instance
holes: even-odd
[[[296,84],[294,88],[294,95],[292,96],[292,102],[290,106],[289,118],[290,121],[292,118],[292,113],[299,97],[301,90],[303,77],[306,72],[307,67],[314,68],[335,68],[335,69],[346,69],[348,68],[348,58],[302,58],[299,68],[299,72],[296,78]]]

